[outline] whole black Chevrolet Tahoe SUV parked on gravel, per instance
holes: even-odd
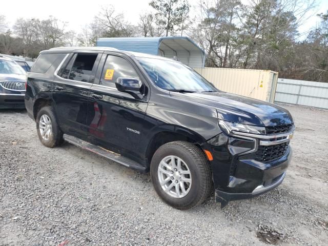
[[[291,114],[219,91],[179,61],[103,47],[40,52],[25,105],[47,147],[64,140],[141,172],[189,209],[215,189],[221,207],[282,182]]]

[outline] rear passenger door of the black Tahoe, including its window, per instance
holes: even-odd
[[[55,72],[52,98],[59,126],[64,133],[85,139],[90,87],[103,52],[77,51],[69,54]]]

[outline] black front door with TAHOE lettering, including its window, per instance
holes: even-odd
[[[115,81],[118,77],[133,77],[141,82],[145,79],[127,56],[104,53],[101,60],[97,71],[99,78],[90,88],[87,119],[90,135],[93,142],[106,149],[131,157],[139,155],[136,152],[145,134],[141,129],[148,98],[138,99],[118,91]]]

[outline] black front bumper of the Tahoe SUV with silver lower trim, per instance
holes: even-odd
[[[292,157],[291,147],[288,147],[283,156],[261,162],[256,160],[259,143],[259,139],[221,133],[204,146],[213,155],[211,168],[215,198],[221,202],[221,207],[232,200],[259,196],[283,181]]]

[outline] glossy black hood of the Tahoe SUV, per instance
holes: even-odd
[[[277,126],[293,123],[290,112],[277,105],[227,92],[178,93],[172,97],[214,107],[218,118],[254,126]]]

